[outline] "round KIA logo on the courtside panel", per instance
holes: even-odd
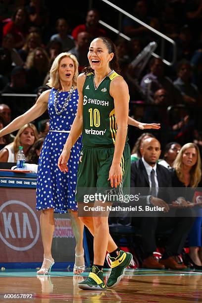
[[[37,243],[39,221],[34,210],[26,203],[15,200],[3,203],[0,206],[0,220],[0,239],[10,249],[27,251]],[[24,246],[17,246],[19,244]]]

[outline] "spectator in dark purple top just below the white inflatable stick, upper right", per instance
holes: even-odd
[[[154,93],[159,89],[166,90],[169,105],[182,103],[182,96],[175,88],[172,81],[164,76],[163,61],[160,58],[152,58],[150,61],[150,73],[145,75],[141,81],[141,87],[145,94],[153,99]],[[150,82],[148,81],[151,80]]]

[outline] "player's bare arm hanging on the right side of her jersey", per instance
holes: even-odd
[[[128,128],[128,111],[129,111],[129,92],[128,85],[121,77],[116,77],[110,84],[110,95],[114,99],[115,117],[117,123],[117,133],[115,139],[115,149],[109,178],[111,187],[119,185],[122,180],[121,157],[125,147],[127,128]]]

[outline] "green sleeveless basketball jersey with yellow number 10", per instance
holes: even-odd
[[[95,87],[95,75],[89,73],[83,86],[83,145],[112,147],[115,144],[117,124],[114,101],[109,94],[111,81],[119,76],[112,70]]]

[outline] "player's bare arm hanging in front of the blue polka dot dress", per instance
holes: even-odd
[[[68,171],[67,162],[68,162],[68,159],[70,156],[71,148],[78,140],[79,136],[82,133],[82,129],[83,129],[83,93],[82,93],[82,89],[83,89],[85,79],[86,79],[85,74],[80,74],[77,79],[77,89],[78,89],[78,93],[79,93],[77,114],[76,114],[76,117],[72,124],[67,141],[64,145],[63,151],[60,154],[58,162],[57,162],[57,165],[58,165],[60,171],[62,171],[62,172]]]

